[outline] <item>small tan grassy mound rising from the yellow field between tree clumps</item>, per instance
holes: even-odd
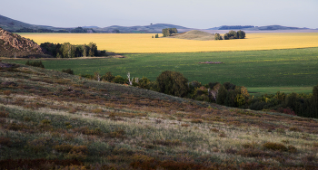
[[[185,33],[178,33],[174,36],[170,36],[171,38],[180,38],[180,39],[186,39],[186,40],[201,40],[201,41],[207,41],[207,40],[214,40],[214,34],[212,33],[206,33],[198,30],[192,30]]]

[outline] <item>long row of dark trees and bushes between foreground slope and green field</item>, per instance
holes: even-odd
[[[313,87],[312,94],[285,94],[278,91],[276,94],[264,94],[253,97],[243,86],[231,82],[209,82],[201,84],[196,80],[188,81],[184,75],[177,71],[164,71],[156,80],[152,81],[143,77],[127,78],[120,75],[114,76],[111,72],[103,76],[95,72],[94,75],[81,75],[92,80],[104,80],[120,84],[128,84],[146,90],[163,92],[182,98],[214,102],[220,105],[253,110],[280,112],[306,118],[318,118],[318,85]]]

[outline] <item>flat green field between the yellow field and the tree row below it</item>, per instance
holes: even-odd
[[[126,58],[43,61],[46,69],[72,69],[75,74],[104,74],[155,78],[162,71],[180,71],[188,80],[203,84],[230,81],[250,91],[271,93],[311,91],[318,83],[318,48],[248,51],[123,54]],[[200,64],[221,61],[223,64]],[[25,61],[15,61],[25,63]],[[265,88],[265,89],[262,89]]]

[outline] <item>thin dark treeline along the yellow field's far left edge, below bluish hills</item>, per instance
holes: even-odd
[[[92,28],[77,27],[75,29],[67,30],[50,30],[50,29],[32,29],[32,28],[21,28],[16,31],[9,31],[11,33],[96,33]]]

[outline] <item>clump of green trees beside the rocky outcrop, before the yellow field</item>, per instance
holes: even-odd
[[[50,54],[56,58],[93,57],[107,55],[106,51],[98,51],[97,45],[94,42],[82,45],[73,45],[69,42],[45,42],[41,43],[40,46],[45,49],[45,53]]]

